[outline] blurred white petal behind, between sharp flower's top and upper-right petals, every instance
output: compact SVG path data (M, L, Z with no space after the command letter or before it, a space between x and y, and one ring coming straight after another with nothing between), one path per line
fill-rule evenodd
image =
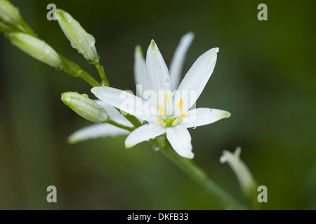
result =
M193 32L185 34L180 39L180 43L171 60L169 71L171 76L171 84L174 90L176 90L179 86L185 55L187 54L187 49L189 49L193 38L195 38L195 34Z

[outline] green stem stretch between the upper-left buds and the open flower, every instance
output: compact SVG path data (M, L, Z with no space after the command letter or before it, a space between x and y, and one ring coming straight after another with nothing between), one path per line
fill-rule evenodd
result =
M100 83L96 79L94 79L92 76L90 76L84 69L81 69L81 67L67 59L66 57L59 54L60 59L62 59L62 69L69 73L71 76L74 77L80 77L84 79L87 83L89 83L92 87L101 86Z

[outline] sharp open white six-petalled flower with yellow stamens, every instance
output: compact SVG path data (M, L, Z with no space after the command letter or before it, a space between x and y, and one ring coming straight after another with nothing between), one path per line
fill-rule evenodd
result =
M173 92L169 70L156 43L152 41L147 50L146 65L151 90L156 94L157 104L152 103L152 100L148 104L145 99L112 87L91 89L91 92L103 102L147 121L146 125L138 127L129 134L125 141L126 148L166 133L176 153L185 158L194 157L191 136L187 128L208 125L230 117L227 111L191 109L213 73L217 52L218 48L212 48L201 55L187 71L178 90Z

